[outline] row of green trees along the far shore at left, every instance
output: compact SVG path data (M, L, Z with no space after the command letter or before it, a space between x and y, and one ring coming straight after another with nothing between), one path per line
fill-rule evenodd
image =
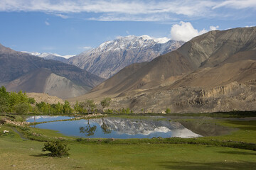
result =
M44 114L68 114L68 113L132 113L129 108L111 110L111 98L104 98L100 102L101 108L98 109L93 100L78 102L71 106L68 101L64 103L49 104L45 102L36 103L34 98L29 98L26 92L18 93L6 91L4 86L0 88L0 113L44 113ZM108 108L108 109L107 109ZM106 110L107 109L107 110Z

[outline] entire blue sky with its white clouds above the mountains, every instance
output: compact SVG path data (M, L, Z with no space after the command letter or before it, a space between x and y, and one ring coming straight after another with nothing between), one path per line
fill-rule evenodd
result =
M118 36L190 40L209 30L256 26L255 0L0 0L0 43L76 55Z

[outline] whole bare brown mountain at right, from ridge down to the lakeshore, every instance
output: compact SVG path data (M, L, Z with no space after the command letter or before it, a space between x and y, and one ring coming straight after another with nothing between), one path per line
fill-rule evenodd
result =
M256 110L256 27L213 30L129 67L76 99L111 96L137 113Z

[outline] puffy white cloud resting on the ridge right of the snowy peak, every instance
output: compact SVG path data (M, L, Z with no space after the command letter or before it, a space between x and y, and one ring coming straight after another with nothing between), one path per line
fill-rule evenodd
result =
M188 41L206 32L207 30L205 29L198 31L193 28L191 23L185 23L181 21L179 24L175 24L171 27L171 39Z

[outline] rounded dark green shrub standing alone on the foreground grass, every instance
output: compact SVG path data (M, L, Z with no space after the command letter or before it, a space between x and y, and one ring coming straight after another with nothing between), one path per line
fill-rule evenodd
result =
M68 151L70 150L67 145L61 141L47 142L43 145L42 151L50 151L51 157L65 157L69 155Z

